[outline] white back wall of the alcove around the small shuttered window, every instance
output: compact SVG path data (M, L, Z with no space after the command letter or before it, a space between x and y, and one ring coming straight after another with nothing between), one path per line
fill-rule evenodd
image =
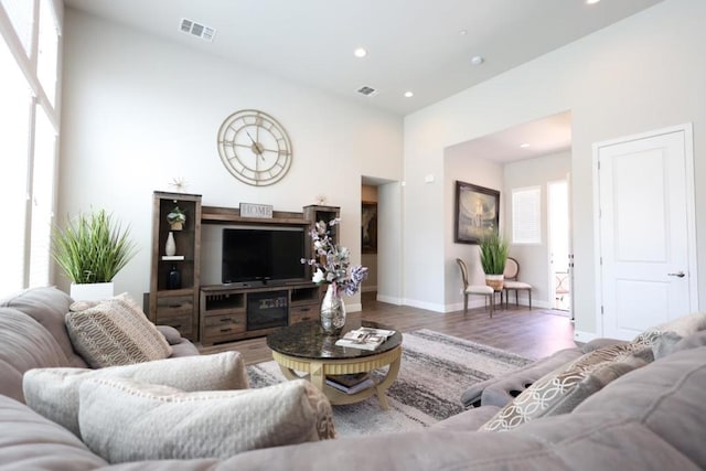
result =
M571 153L559 152L535 159L509 163L504 167L505 183L505 234L512 240L512 191L527 186L539 186L542 191L542 243L538 245L510 246L510 256L520 265L521 281L532 285L532 306L537 308L552 308L554 293L549 291L549 246L547 222L547 183L556 180L566 180L571 168ZM525 292L520 292L523 302ZM524 302L526 303L526 296Z

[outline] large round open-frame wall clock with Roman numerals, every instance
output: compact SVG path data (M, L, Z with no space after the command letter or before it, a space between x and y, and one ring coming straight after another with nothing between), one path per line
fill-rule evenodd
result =
M291 165L291 141L266 113L244 109L228 116L218 130L218 153L228 172L250 185L280 181Z

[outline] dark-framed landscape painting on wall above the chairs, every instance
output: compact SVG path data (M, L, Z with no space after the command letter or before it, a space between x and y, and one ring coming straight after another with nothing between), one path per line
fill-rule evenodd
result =
M500 192L466 182L456 182L453 242L478 244L500 225Z

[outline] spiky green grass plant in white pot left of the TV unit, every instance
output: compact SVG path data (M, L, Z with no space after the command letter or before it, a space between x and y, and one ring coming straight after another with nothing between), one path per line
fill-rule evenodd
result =
M64 227L54 227L52 257L71 280L74 300L114 295L113 279L136 254L129 234L105 210L79 213Z

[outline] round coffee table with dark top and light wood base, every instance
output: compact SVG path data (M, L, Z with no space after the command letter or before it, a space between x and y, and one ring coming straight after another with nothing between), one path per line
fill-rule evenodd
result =
M387 327L367 321L349 321L343 333L368 327ZM267 336L267 346L288 379L304 377L327 395L331 404L353 404L377 394L381 407L388 409L385 392L397 378L402 360L402 334L395 332L374 351L335 345L339 338L327 336L318 321L299 322L281 328ZM372 386L354 394L346 394L327 384L327 376L371 373L389 366L381 378L373 378ZM297 372L304 375L300 376Z

